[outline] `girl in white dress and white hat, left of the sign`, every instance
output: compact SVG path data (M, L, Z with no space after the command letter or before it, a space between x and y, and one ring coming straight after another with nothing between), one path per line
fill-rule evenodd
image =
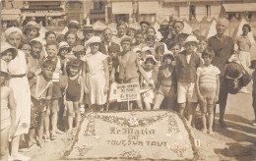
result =
M107 101L109 89L109 72L107 55L98 51L100 37L94 36L88 40L91 52L84 57L84 79L86 93L89 93L90 104L96 111L101 110Z

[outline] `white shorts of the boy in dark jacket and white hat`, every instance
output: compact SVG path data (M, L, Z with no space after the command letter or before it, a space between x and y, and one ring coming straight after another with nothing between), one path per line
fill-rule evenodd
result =
M180 82L177 83L177 102L198 102L195 82Z

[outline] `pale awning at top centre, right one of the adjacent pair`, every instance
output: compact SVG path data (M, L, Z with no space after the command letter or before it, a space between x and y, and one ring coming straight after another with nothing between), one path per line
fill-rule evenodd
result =
M159 11L159 1L139 2L140 14L156 14Z

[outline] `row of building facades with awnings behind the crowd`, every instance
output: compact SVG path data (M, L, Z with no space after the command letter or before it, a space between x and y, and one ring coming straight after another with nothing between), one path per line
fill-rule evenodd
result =
M1 20L34 19L43 26L62 26L75 19L81 24L168 21L170 17L187 22L224 17L231 20L256 19L254 0L29 0L1 1Z

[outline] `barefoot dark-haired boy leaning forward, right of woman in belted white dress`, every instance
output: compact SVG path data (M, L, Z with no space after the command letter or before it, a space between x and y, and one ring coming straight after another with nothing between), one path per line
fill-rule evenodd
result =
M51 79L54 69L55 65L51 61L46 60L42 64L42 74L30 80L32 92L32 118L29 132L29 147L33 144L35 129L38 131L38 145L42 147L44 113L46 112L46 108L49 108L48 103L52 96L53 83Z

